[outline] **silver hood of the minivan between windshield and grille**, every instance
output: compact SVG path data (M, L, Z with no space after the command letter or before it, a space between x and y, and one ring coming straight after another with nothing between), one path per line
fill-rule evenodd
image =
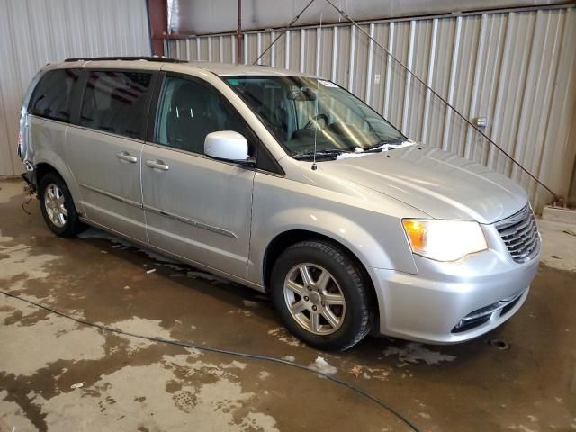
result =
M323 173L384 193L435 219L492 223L527 203L524 190L504 175L418 144L318 166Z

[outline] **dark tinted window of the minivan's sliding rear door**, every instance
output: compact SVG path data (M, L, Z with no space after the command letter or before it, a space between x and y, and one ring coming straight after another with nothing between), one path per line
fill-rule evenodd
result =
M142 72L90 71L80 125L144 139L151 77Z

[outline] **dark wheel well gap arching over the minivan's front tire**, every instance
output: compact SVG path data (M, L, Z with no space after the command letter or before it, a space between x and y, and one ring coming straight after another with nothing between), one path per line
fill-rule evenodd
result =
M266 254L264 255L264 286L266 287L266 290L270 288L270 277L272 276L272 269L275 265L276 259L278 259L278 257L280 257L280 255L288 247L291 247L292 245L299 243L301 241L310 241L310 240L324 240L338 246L338 248L346 252L347 256L355 261L357 267L365 276L365 281L368 284L368 291L369 295L371 296L371 301L373 302L373 304L377 305L378 299L376 297L376 292L374 289L372 278L370 277L370 275L368 275L366 267L364 266L364 264L362 264L362 261L360 261L360 259L356 257L354 252L352 252L348 247L344 246L342 243L339 243L337 240L333 238L329 238L328 236L324 236L323 234L319 234L318 232L307 231L304 229L293 229L291 231L283 232L282 234L276 236L266 248ZM374 316L376 319L379 318L377 306L374 307Z

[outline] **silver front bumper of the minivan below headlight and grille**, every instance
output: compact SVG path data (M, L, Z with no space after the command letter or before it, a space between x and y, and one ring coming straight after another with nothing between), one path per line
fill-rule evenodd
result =
M489 249L442 263L414 256L418 274L368 267L383 335L432 344L478 338L508 320L526 301L540 252L512 260L494 227L483 227Z

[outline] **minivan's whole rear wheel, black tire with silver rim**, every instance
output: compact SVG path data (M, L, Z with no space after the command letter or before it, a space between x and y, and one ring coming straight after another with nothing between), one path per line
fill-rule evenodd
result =
M72 195L59 175L48 173L42 176L38 197L44 221L54 234L69 238L85 229L85 224L78 219Z

